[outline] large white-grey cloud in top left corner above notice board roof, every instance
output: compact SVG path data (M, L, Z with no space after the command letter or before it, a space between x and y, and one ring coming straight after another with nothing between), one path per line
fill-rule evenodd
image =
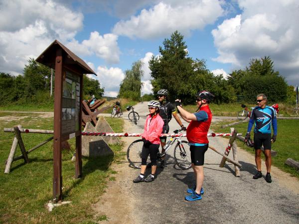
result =
M54 39L66 42L83 27L82 13L52 0L1 0L0 14L0 68L11 75Z

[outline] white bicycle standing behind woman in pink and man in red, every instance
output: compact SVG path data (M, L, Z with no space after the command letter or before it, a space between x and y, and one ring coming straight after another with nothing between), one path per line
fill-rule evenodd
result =
M174 133L182 133L182 129L174 130ZM191 167L191 153L190 153L190 146L188 141L181 140L182 137L171 137L169 141L167 141L165 145L165 152L158 153L158 161L161 161L161 158L166 155L166 152L169 148L177 141L174 147L174 161L176 165L181 168L182 170L187 170ZM143 140L138 139L133 141L127 150L127 159L130 165L134 168L141 168L141 152L143 147ZM148 158L147 163L150 163Z

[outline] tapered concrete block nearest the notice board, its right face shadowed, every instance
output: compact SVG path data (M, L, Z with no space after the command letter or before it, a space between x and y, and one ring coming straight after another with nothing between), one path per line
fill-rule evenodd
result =
M96 132L96 128L87 122L84 131ZM82 136L82 155L86 157L99 157L114 155L109 145L104 141L102 136Z

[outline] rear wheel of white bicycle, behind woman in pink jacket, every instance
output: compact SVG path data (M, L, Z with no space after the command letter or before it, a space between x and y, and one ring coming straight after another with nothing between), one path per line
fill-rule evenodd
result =
M143 147L142 139L133 141L127 149L127 159L134 168L141 168L141 152ZM150 163L148 157L147 164Z

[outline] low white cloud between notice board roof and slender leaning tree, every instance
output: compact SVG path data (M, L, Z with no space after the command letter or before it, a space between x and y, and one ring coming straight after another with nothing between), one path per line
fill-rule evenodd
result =
M105 96L116 97L122 80L125 78L125 74L120 68L107 68L99 66L96 79L99 80L101 87L105 87Z

